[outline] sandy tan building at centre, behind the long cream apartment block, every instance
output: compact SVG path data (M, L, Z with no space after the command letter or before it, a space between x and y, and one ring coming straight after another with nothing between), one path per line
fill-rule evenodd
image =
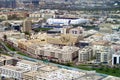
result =
M81 36L62 34L58 36L48 36L47 42L55 45L75 45L80 39L82 39Z

